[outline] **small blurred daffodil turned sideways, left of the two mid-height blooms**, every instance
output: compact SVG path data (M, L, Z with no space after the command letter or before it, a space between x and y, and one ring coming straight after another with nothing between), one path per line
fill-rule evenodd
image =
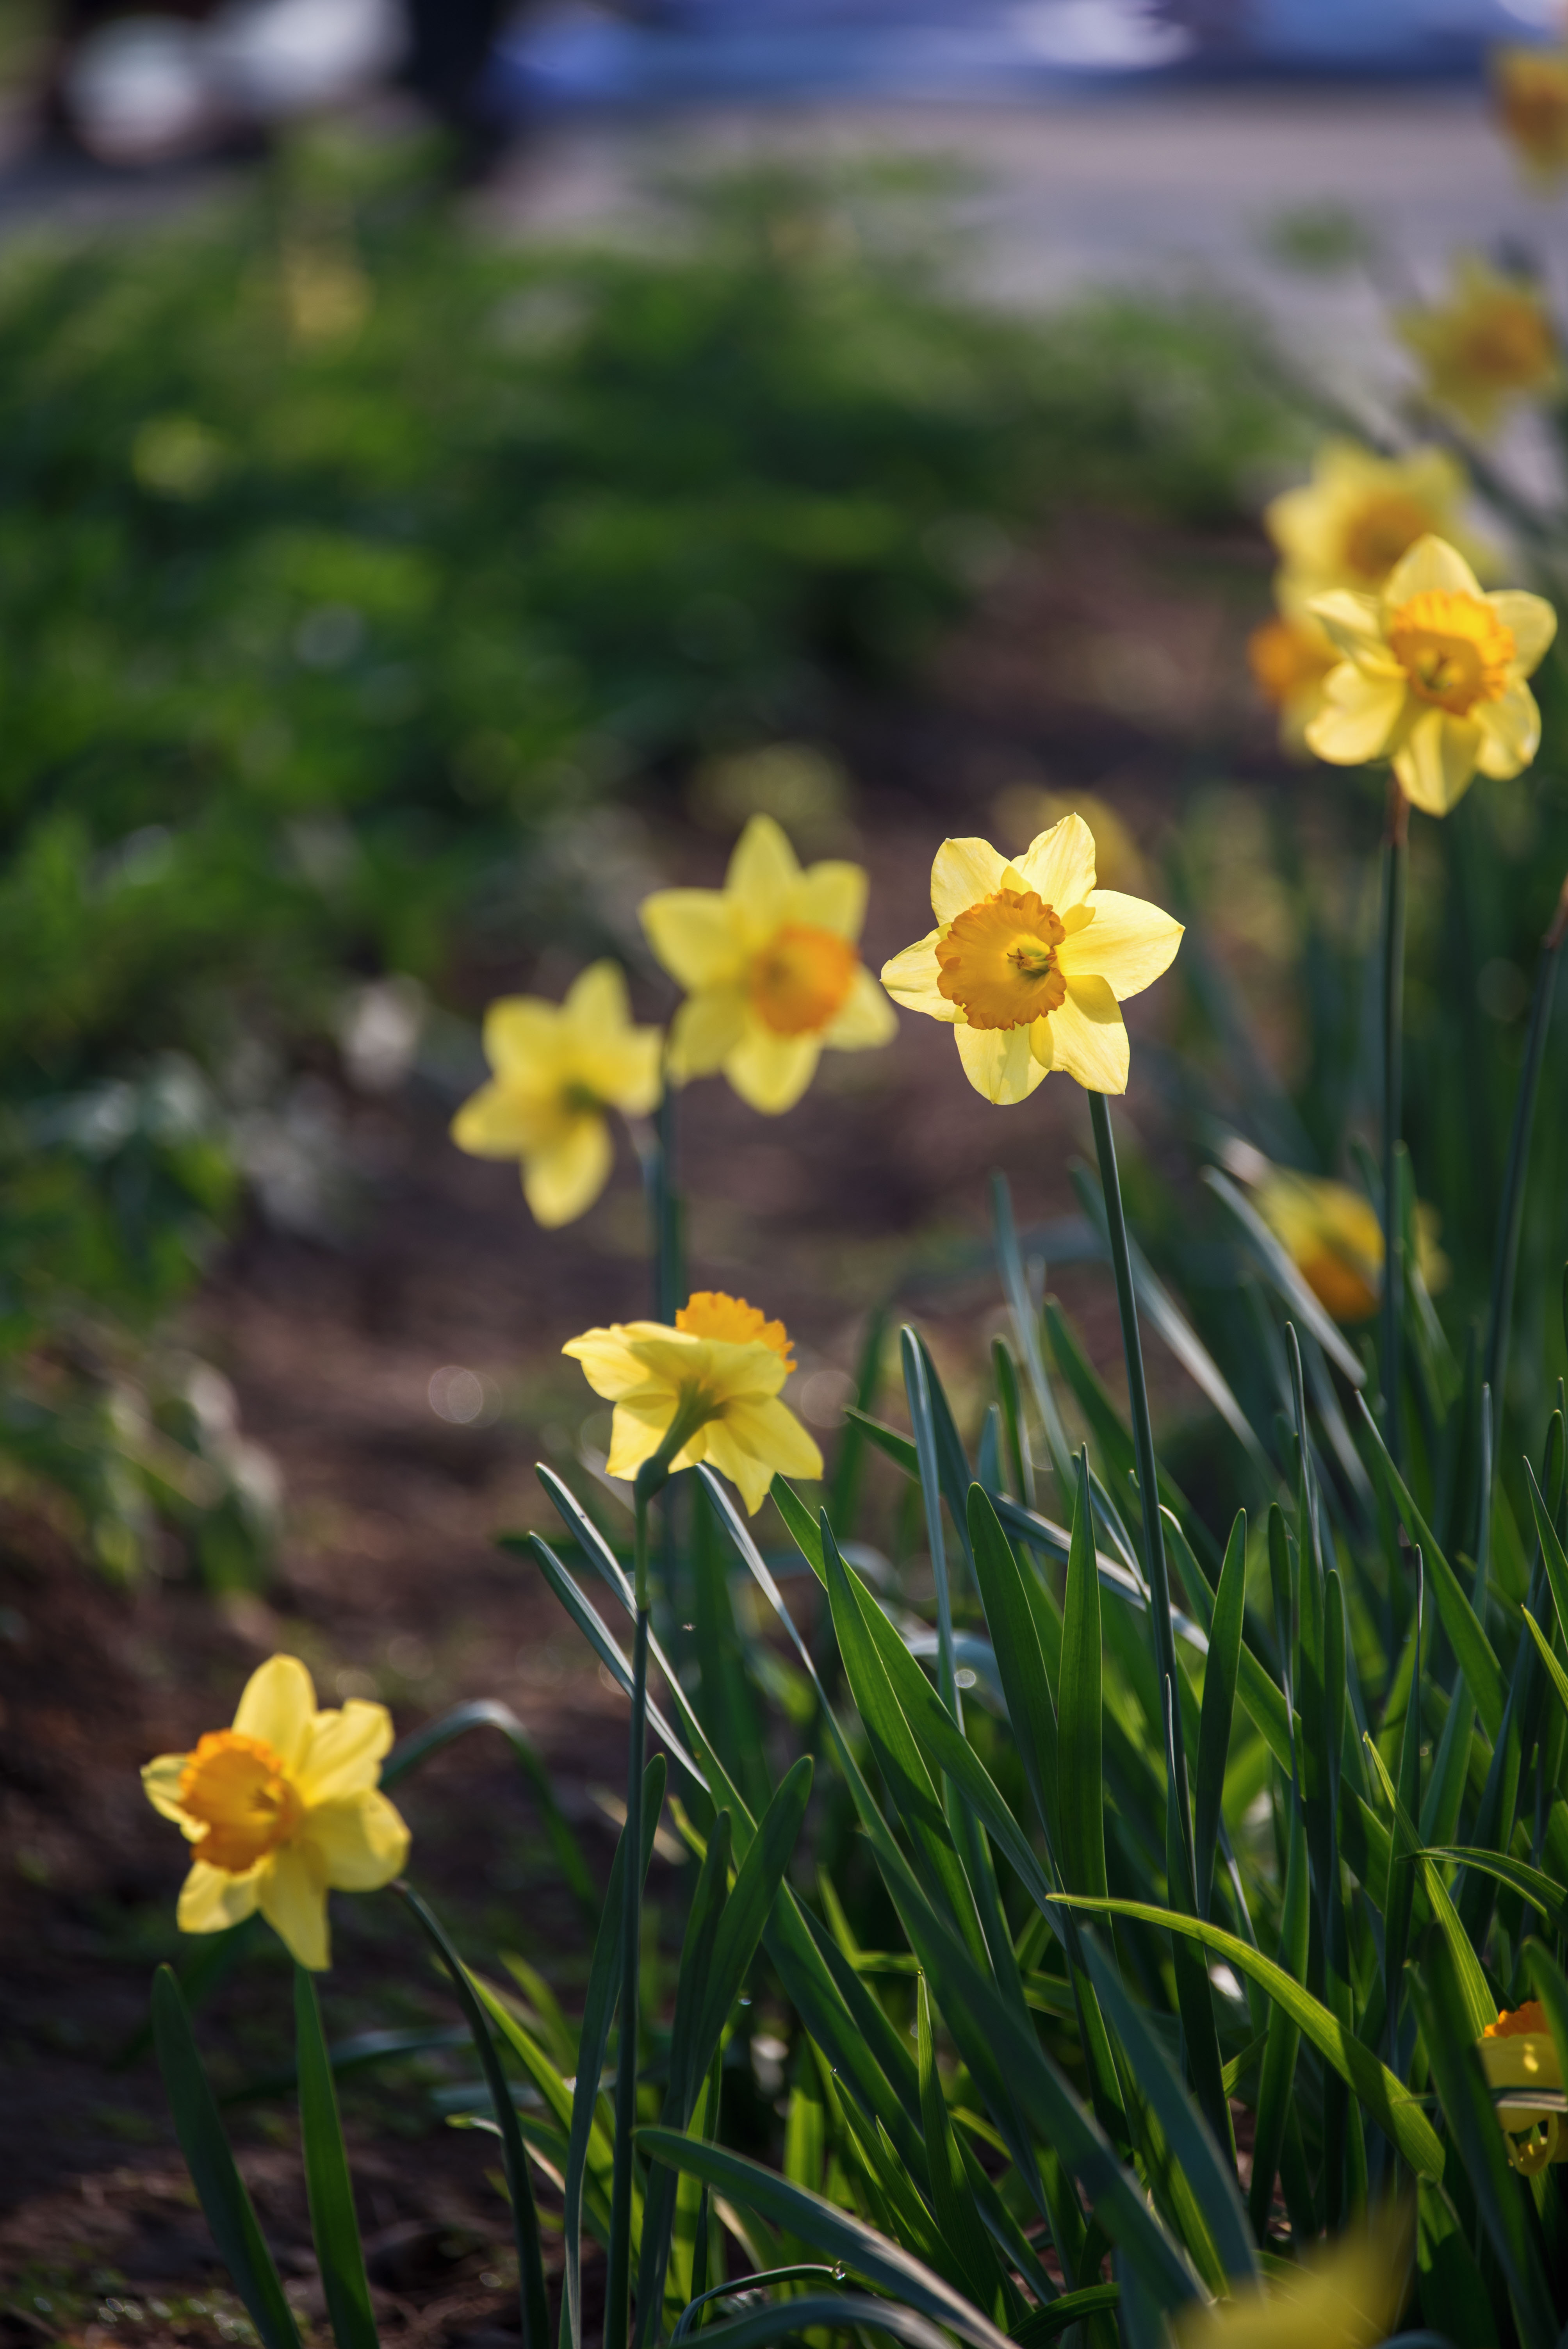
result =
M660 1099L660 1029L631 1027L622 972L592 963L566 1003L491 1003L484 1057L495 1076L453 1118L453 1142L474 1158L519 1158L535 1224L587 1214L610 1179L608 1111L641 1118Z

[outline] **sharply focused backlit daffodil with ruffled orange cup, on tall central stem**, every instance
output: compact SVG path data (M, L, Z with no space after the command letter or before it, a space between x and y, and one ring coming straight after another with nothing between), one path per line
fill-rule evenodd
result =
M937 928L883 963L883 987L953 1027L976 1092L1023 1102L1049 1069L1089 1092L1127 1092L1120 1005L1171 965L1181 923L1094 886L1082 815L1012 862L991 841L944 841L932 911Z

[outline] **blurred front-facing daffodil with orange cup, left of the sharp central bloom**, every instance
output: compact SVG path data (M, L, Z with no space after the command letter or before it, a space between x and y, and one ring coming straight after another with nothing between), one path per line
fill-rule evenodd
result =
M768 1116L793 1109L824 1045L869 1052L897 1019L857 954L866 916L859 864L796 862L770 815L753 815L725 886L662 888L643 900L643 930L685 987L669 1031L678 1083L723 1069L742 1102Z

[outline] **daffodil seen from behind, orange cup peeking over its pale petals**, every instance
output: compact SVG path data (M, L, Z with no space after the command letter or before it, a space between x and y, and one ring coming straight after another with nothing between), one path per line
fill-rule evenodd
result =
M561 1353L615 1405L608 1475L634 1478L676 1426L685 1442L671 1468L711 1461L753 1517L775 1475L822 1475L822 1452L779 1402L796 1367L784 1322L765 1320L744 1297L695 1290L674 1330L613 1322L584 1330Z

